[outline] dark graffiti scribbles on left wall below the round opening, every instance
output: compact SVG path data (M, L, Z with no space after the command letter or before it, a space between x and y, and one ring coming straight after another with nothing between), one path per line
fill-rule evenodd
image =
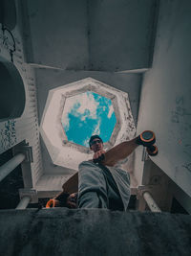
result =
M10 149L16 144L16 130L14 120L5 122L3 128L0 128L0 148L2 150Z

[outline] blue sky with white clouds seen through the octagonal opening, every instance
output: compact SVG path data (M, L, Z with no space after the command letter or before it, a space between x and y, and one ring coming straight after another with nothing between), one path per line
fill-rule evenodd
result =
M69 141L89 147L93 134L107 142L117 119L110 99L88 91L66 100L61 122Z

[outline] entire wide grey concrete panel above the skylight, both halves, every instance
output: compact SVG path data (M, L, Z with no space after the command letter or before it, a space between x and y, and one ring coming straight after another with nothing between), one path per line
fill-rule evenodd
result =
M147 68L158 2L22 1L27 60L66 70Z

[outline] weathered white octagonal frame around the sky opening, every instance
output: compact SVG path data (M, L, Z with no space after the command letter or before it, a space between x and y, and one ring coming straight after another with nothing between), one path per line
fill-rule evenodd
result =
M135 136L136 127L127 93L92 78L59 86L50 90L40 124L43 141L55 165L77 170L81 161L92 158L93 151L89 148L68 141L61 123L66 99L87 91L110 99L114 107L117 123L110 140L104 143L106 151Z

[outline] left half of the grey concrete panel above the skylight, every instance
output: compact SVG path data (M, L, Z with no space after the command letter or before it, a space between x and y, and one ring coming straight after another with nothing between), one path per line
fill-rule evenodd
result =
M29 23L25 31L28 62L63 69L86 69L89 61L87 1L22 2L23 22Z

